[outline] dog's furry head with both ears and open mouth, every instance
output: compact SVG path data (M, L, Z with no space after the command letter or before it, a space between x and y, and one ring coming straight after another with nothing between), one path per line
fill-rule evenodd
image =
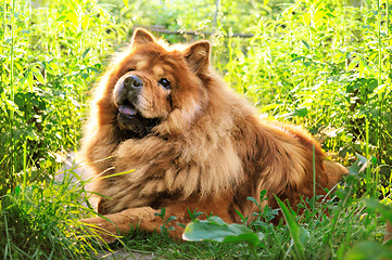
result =
M207 102L208 64L207 41L168 46L137 29L109 68L115 122L139 138L184 131Z

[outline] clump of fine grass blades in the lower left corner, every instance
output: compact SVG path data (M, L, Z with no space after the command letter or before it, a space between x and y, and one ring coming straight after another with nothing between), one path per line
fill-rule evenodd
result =
M91 211L80 205L86 192L71 171L61 183L16 186L1 200L0 252L4 259L88 259L92 246L77 243L76 220Z

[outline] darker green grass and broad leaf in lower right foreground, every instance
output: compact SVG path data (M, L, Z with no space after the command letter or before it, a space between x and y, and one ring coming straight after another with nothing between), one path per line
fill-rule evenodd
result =
M244 230L244 234L253 233L253 236L258 233L263 234L263 240L256 247L256 253L262 258L365 259L356 257L358 253L361 257L368 256L364 252L369 245L375 245L376 248L382 250L377 253L372 251L374 257L381 259L387 256L387 252L390 252L390 249L377 242L364 242L376 232L380 218L375 214L374 210L365 209L362 197L355 198L357 196L356 187L361 183L359 176L363 173L352 170L352 173L345 179L341 192L331 200L326 200L324 204L317 203L315 207L311 207L312 199L303 202L299 205L299 208L302 209L301 214L293 211L290 205L287 206L276 198L286 223L280 222L278 225L273 225L266 221L265 216L269 216L268 211L273 209L265 208L264 212L258 213L258 218L250 221L251 231L245 229L245 225L239 230ZM262 197L264 197L263 194ZM319 202L319 198L316 200ZM329 217L327 217L328 212ZM195 220L187 226L185 238L187 239L189 236L190 240L225 242L226 238L232 236L232 232L227 226L215 219ZM246 243L246 239L238 235L235 242Z

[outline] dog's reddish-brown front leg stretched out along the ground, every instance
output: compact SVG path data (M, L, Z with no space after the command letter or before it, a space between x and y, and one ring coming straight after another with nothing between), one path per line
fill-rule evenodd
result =
M165 220L172 216L176 218L169 223L165 223L166 229L174 227L174 230L168 231L168 235L174 239L181 239L182 226L191 222L188 209L204 212L200 218L206 218L213 213L219 216L227 223L235 222L233 217L229 213L231 199L228 199L228 196L227 194L216 195L205 200L192 198L166 206ZM161 213L161 210L151 207L130 208L117 213L105 214L104 218L84 219L81 222L92 227L90 234L96 232L104 242L112 243L118 235L127 234L132 227L147 232L160 232L163 221L157 213Z

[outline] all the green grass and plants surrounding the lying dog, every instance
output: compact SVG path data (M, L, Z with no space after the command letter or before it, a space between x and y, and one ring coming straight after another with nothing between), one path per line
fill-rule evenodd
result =
M255 256L243 243L174 243L165 234L139 231L110 247L76 236L77 220L92 214L83 204L88 193L81 180L71 181L72 171L61 182L53 176L64 155L78 148L89 88L134 25L197 31L214 27L214 66L226 81L261 113L303 125L324 140L331 158L350 167L351 174L331 202L304 203L301 216L288 205L288 224L271 225L275 211L261 209L248 226L263 234L254 248L257 257L391 256L381 244L391 211L383 208L390 203L392 166L389 0L365 1L361 9L337 1L222 1L217 13L207 1L108 2L0 4L4 259L94 259L104 249L118 248L164 259ZM205 18L215 14L215 22ZM223 37L230 32L254 37ZM172 42L202 38L164 37ZM382 204L368 203L375 200ZM329 209L329 217L319 213L323 208Z

